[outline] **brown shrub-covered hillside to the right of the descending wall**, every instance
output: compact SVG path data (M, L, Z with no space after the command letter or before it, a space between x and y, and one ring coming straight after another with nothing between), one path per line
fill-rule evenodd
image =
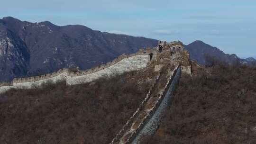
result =
M256 69L213 61L196 76L182 76L148 144L256 144Z

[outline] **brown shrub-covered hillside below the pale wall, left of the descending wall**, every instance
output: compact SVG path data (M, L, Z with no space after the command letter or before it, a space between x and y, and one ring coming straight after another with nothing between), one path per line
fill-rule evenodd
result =
M9 90L0 96L0 144L110 143L146 97L150 74Z

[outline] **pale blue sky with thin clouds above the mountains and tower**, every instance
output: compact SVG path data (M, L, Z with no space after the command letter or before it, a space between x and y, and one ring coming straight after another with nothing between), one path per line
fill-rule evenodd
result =
M256 0L4 0L0 17L6 16L184 44L202 40L256 56Z

